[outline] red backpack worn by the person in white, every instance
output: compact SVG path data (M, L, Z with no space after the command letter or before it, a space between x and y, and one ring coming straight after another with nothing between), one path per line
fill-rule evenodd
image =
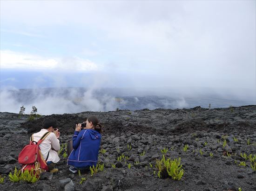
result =
M50 133L45 133L38 142L33 140L32 134L29 145L26 145L19 154L18 161L22 164L21 172L25 170L30 171L33 168L34 174L40 177L40 173L48 171L46 160L48 159L49 153L45 160L41 154L39 145Z

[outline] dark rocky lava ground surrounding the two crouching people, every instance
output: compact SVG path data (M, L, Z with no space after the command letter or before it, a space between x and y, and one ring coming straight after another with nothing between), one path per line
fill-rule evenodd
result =
M256 191L256 171L248 159L249 154L256 154L255 105L52 115L61 131L62 146L72 139L75 124L89 115L97 115L104 125L99 153L104 170L94 176L69 172L64 148L57 164L59 172L46 172L41 180L27 184L13 183L7 175L15 166L20 168L18 155L30 135L40 131L44 116L28 121L28 115L19 118L18 114L0 113L0 174L6 176L0 190ZM181 158L184 175L180 181L157 177L156 159L162 158L163 148L168 148L166 158ZM122 154L126 158L117 161ZM246 166L239 166L240 162ZM81 178L86 180L80 184Z

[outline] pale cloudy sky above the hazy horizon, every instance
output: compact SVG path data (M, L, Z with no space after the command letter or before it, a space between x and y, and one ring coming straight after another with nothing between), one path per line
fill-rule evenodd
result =
M212 89L256 102L256 1L0 1L0 86Z

